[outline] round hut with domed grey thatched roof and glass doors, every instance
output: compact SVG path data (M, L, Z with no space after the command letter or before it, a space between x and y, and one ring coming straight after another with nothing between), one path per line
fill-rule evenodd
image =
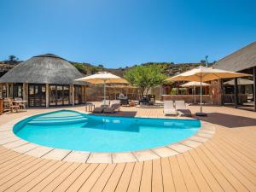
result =
M19 97L29 107L74 105L85 102L85 84L76 67L57 55L33 56L0 78L2 97Z

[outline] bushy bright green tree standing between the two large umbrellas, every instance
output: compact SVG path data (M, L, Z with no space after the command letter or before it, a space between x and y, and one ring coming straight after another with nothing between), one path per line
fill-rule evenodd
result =
M148 94L148 90L166 79L163 68L156 65L137 66L125 72L125 79L132 85L137 86L140 95Z

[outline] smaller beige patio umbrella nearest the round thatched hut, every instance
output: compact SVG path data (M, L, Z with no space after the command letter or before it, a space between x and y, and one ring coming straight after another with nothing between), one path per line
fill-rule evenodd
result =
M104 105L106 104L106 84L128 84L125 79L112 73L99 72L84 78L75 79L75 81L87 82L90 84L103 84L104 86Z

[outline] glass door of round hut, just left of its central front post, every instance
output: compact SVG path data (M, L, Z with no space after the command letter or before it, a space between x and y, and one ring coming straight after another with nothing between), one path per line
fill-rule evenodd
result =
M29 107L45 107L45 84L28 84Z

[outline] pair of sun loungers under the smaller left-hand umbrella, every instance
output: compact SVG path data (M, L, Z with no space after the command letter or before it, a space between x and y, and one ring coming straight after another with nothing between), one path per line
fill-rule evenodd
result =
M111 101L111 105L109 105L109 101L104 102L101 107L95 108L92 113L115 113L120 110L120 101L113 100Z

